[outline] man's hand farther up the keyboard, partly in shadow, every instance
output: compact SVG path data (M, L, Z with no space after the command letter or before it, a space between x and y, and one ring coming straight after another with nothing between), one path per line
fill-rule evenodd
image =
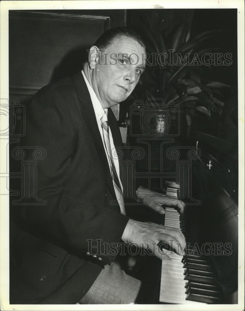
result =
M185 203L181 200L157 193L146 188L139 187L136 191L137 198L144 201L147 207L150 207L159 214L165 214L162 205L175 205L178 207L180 214L183 214Z

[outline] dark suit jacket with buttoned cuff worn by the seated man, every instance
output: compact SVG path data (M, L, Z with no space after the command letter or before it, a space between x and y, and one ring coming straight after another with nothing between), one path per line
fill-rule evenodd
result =
M87 239L102 240L98 251L104 253L103 243L120 242L128 217L110 205L116 196L81 72L42 88L26 110L20 146L47 152L37 163L37 197L47 204L28 205L26 199L25 205L11 207L10 303L75 304L103 264L115 258L87 255ZM108 120L120 146L111 109Z

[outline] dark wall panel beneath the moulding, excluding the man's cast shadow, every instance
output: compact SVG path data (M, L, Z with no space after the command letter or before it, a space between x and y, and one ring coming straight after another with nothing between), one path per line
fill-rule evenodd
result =
M49 83L62 59L88 47L91 40L109 29L109 20L106 16L12 13L9 29L10 86L41 87ZM81 59L77 67L81 67Z

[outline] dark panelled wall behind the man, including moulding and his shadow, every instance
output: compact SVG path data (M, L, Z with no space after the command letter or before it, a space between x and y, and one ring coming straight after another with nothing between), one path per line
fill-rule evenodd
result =
M9 11L11 104L78 72L99 35L124 24L125 10Z

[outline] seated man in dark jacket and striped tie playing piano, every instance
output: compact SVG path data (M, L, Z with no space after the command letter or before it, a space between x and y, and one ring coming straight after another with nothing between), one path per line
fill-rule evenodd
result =
M46 205L28 205L26 198L26 205L12 208L10 303L133 303L140 281L116 267L106 245L147 243L166 260L156 244L173 240L176 252L185 247L179 230L125 215L112 156L122 141L110 107L133 91L145 53L134 31L108 30L91 47L82 72L45 86L28 107L20 146L46 150L37 166L37 195ZM169 197L140 190L139 199L164 213ZM183 202L171 202L183 211ZM96 253L88 241L101 241Z

